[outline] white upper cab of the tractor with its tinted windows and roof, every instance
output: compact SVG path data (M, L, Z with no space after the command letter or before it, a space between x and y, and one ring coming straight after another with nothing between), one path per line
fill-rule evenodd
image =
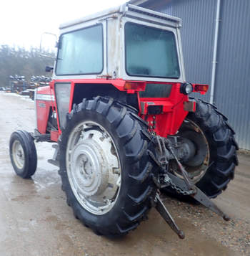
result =
M184 82L180 27L130 4L61 24L53 78Z

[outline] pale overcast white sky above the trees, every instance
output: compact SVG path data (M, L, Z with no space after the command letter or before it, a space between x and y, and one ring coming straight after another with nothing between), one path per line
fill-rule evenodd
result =
M1 0L0 44L39 47L41 34L59 34L59 24L94 14L126 0ZM42 44L54 47L55 38L44 34Z

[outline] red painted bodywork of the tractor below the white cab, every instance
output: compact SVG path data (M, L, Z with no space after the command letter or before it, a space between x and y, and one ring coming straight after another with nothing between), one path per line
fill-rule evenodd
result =
M166 137L168 135L174 135L179 130L181 123L183 123L184 118L189 113L185 107L185 102L189 102L187 95L180 93L181 83L177 82L156 82L157 84L172 85L171 93L168 98L141 98L139 95L140 91L144 91L146 88L146 83L143 81L125 81L125 80L107 80L107 79L85 79L85 80L54 80L49 86L40 87L36 93L36 110L37 110L37 127L40 133L46 133L47 121L49 118L50 108L56 110L56 116L59 116L56 101L54 100L55 95L55 84L69 83L71 84L71 93L69 98L69 112L71 112L73 98L74 98L74 87L75 84L109 84L114 85L118 90L125 91L129 94L137 94L139 103L139 116L149 123L150 131L154 131L157 135ZM154 82L149 82L154 83ZM198 90L195 90L199 88ZM194 86L194 91L200 92L200 90L206 89L206 85L201 85L200 87ZM50 98L44 98L47 95ZM83 95L84 98L84 95ZM158 105L161 108L161 113L149 115L147 113L149 105ZM195 104L194 108L195 109ZM57 123L59 130L51 132L51 141L57 141L59 135L61 134L61 129L59 126L59 118L57 118Z

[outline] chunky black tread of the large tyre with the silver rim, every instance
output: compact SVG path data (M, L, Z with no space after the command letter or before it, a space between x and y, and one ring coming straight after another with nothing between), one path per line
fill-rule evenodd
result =
M99 105L101 104L101 105ZM99 108L101 106L101 108ZM155 196L156 187L154 186L151 176L151 171L154 170L154 161L147 155L147 149L149 147L149 135L144 136L143 133L147 133L144 121L141 120L135 114L133 108L128 108L126 105L117 102L113 98L96 97L94 100L82 100L82 103L76 108L77 113L69 114L71 118L68 119L65 132L69 133L69 128L74 127L74 120L76 116L82 115L84 111L92 111L94 113L101 113L100 115L106 117L112 115L112 120L106 121L110 123L111 128L119 137L119 140L124 145L124 157L128 163L133 163L133 172L128 172L127 182L131 184L129 194L124 197L124 207L120 209L120 215L116 218L114 224L110 227L97 226L95 222L89 222L84 219L83 209L81 209L78 202L74 198L69 187L69 181L66 181L66 167L63 160L63 153L60 155L60 171L62 184L66 192L67 204L73 209L74 215L84 225L90 227L97 234L104 234L112 237L120 237L127 234L129 231L136 229L139 223L146 219L146 215L151 208L151 198ZM85 112L84 112L85 113ZM119 136L119 125L126 125L126 118L130 118L133 122L131 131L126 132ZM69 127L69 128L68 128ZM65 143L67 141L67 133L62 134L59 146L66 151ZM139 140L139 141L138 141ZM132 147L132 148L131 148ZM141 160L143 159L143 160ZM134 185L133 185L134 184ZM133 185L133 186L132 186ZM112 220L113 221L113 220Z

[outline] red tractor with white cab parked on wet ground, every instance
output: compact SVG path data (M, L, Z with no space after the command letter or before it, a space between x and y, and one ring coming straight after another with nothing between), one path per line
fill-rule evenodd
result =
M10 139L11 163L36 171L34 141L49 141L76 218L106 236L136 229L156 207L184 238L159 191L211 202L234 178L234 131L214 105L189 98L181 19L124 4L62 24L53 80L35 93L37 128Z

